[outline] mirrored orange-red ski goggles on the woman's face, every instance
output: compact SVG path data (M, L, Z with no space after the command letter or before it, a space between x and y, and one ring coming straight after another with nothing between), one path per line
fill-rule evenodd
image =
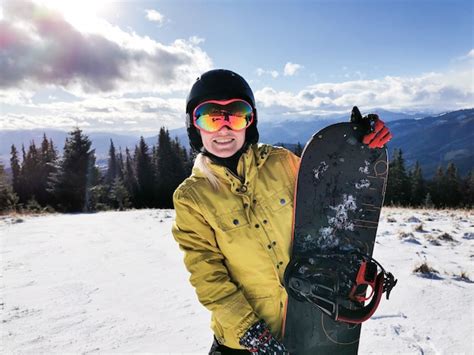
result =
M200 103L193 111L194 126L209 133L227 126L241 131L253 122L253 108L244 100L209 100Z

